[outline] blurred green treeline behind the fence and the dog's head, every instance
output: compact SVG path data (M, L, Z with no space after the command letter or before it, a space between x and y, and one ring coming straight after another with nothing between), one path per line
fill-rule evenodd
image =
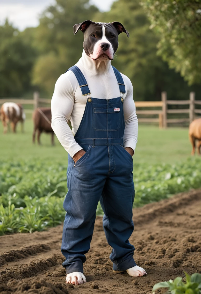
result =
M6 20L0 26L0 97L27 97L37 90L51 98L58 77L81 57L83 34L74 36L73 25L87 19L119 21L129 31L130 38L120 34L112 64L130 78L134 100L160 100L161 91L167 91L168 99L188 99L190 91L200 97L201 85L188 86L157 54L160 34L150 29L140 0L116 1L108 12L88 0L56 0L38 27L23 32Z

